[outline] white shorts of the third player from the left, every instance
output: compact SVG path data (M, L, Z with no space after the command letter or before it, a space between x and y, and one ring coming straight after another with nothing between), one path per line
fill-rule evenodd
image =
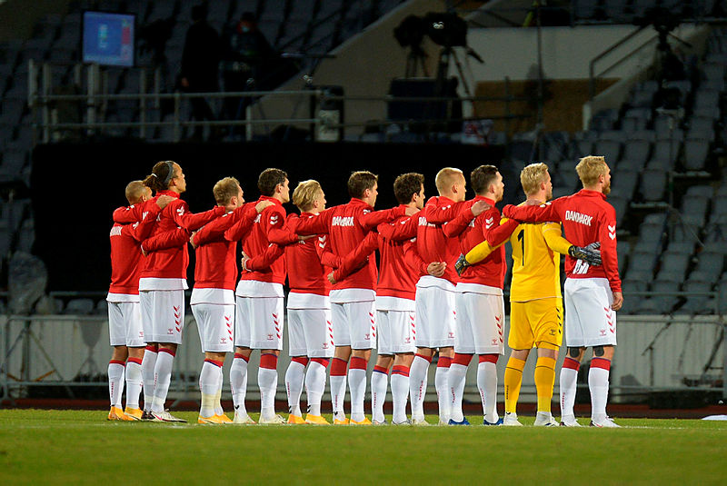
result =
M194 303L202 352L233 352L234 304Z

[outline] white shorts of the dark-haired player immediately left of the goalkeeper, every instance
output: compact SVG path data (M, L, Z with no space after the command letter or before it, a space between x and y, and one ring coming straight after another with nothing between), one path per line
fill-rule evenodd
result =
M456 296L454 352L504 354L505 303L502 295L461 292Z

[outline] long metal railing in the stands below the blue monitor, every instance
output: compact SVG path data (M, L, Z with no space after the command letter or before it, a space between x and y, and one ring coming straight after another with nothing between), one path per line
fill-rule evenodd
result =
M515 102L532 101L528 96L515 96L510 94L509 80L505 79L505 95L503 96L422 96L422 97L399 97L392 95L384 96L348 96L334 95L327 89L320 89L311 86L310 89L302 90L277 90L277 91L242 91L242 92L213 92L213 93L162 93L160 92L160 84L157 82L159 75L158 69L153 73L148 73L145 69L138 70L140 92L134 94L109 94L107 90L107 82L105 72L102 72L97 64L89 64L84 66L85 74L80 66L74 68L74 83L78 84L78 90L85 84L85 92L83 94L54 94L52 87L52 65L48 63L36 65L32 60L28 66L28 104L32 111L32 121L34 127L35 143L50 143L54 141L54 134L73 131L77 134L85 136L93 136L101 134L106 129L112 128L133 128L138 129L140 138L148 138L148 129L157 127L172 127L172 142L178 142L183 137L185 128L195 127L244 127L245 138L251 140L254 136L254 126L263 125L267 132L270 127L275 125L309 125L312 127L324 126L328 130L338 130L343 128L361 127L371 124L380 126L388 126L393 124L407 125L416 124L418 126L433 127L436 125L447 123L462 123L466 121L478 121L483 118L492 120L504 120L506 132L509 132L509 124L512 120L528 118L531 114L513 114L512 105ZM131 75L131 74L128 74ZM153 78L153 91L146 92L147 78ZM275 97L287 98L293 105L292 114L289 117L270 119L264 114L262 100L269 100ZM191 120L184 119L183 106L194 98L204 98L207 100L237 100L241 105L244 104L244 119L224 118L224 110L220 118L214 121ZM244 103L243 103L243 100ZM105 114L109 112L109 104L112 102L131 102L134 110L138 114L138 121L102 121ZM443 110L445 115L436 116L437 110L432 109L432 116L424 117L416 120L393 120L379 119L367 120L362 122L340 121L334 122L330 117L319 115L318 111L314 112L314 116L298 116L299 112L307 113L308 110L301 110L304 103L311 106L320 106L322 104L339 103L339 104L389 104L389 103L409 103L424 104L426 107L432 107L437 104L445 104ZM503 104L503 112L501 115L474 115L472 117L453 117L451 115L453 104L463 103L472 104L473 113L477 113L476 105L483 102L497 102ZM57 116L53 113L53 107L56 104L73 104L76 113L83 111L85 114L80 117L82 120L78 122L58 121ZM174 114L172 121L154 121L150 118L153 111L162 111L162 106L167 104L168 113ZM425 108L428 109L428 108ZM349 108L350 110L350 108ZM257 112L257 114L255 113Z

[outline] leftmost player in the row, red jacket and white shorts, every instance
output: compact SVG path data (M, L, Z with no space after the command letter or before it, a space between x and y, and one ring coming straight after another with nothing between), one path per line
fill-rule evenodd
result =
M152 191L142 181L126 185L126 200L130 206L116 211L126 212L136 204L143 204L152 198ZM171 198L164 197L149 206L144 222L130 219L128 223L114 223L110 233L111 243L111 285L108 289L109 339L114 347L108 365L109 395L111 411L108 420L141 420L139 393L142 390L141 363L144 357L144 330L139 309L139 272L141 271L142 241L144 224L156 219ZM152 223L153 224L153 223ZM128 360L126 359L128 357ZM125 370L124 370L125 368ZM124 373L125 371L125 373ZM126 382L126 409L121 408L121 393Z

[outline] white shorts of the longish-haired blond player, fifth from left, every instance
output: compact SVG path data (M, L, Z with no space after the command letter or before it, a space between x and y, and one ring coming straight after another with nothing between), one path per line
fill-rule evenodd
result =
M288 309L291 356L333 358L334 328L330 309Z

